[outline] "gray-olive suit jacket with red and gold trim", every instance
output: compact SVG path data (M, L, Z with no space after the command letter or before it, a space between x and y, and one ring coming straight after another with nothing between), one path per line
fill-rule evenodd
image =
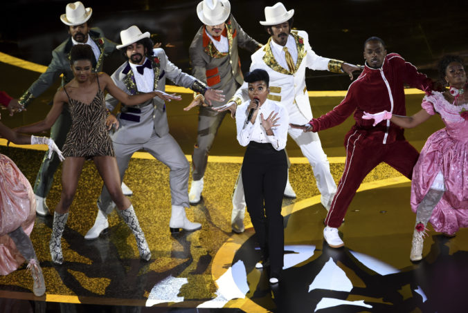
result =
M233 97L237 88L244 82L240 70L237 47L254 53L262 47L255 39L247 35L232 15L225 23L229 44L228 53L219 53L201 26L190 44L189 54L192 64L192 75L210 86L224 91L225 102L213 102L213 106L221 106Z

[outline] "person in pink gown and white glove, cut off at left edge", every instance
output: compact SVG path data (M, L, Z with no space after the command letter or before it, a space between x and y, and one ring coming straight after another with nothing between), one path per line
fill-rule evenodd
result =
M0 104L15 106L17 101L0 91ZM9 109L11 113L21 111L21 108ZM1 122L0 137L15 144L48 144L50 151L58 151L59 158L62 156L50 138L20 135ZM42 296L46 291L44 276L29 239L36 218L35 202L33 189L26 177L15 162L0 153L0 275L10 274L27 261L34 279L33 292Z

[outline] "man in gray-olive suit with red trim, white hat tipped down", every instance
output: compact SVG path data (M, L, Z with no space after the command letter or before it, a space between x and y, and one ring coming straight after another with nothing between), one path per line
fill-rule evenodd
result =
M190 44L192 75L211 88L223 91L226 99L231 99L244 82L237 48L254 53L262 45L247 35L235 21L228 0L201 1L197 6L197 15L204 26L199 28ZM216 108L224 104L213 102L212 106ZM199 107L197 144L192 157L193 181L189 193L191 205L201 199L208 152L225 115L226 111Z

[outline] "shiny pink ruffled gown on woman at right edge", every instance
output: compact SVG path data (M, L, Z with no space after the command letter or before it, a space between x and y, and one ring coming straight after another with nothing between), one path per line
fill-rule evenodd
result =
M435 231L455 234L460 227L468 227L468 104L455 106L433 91L424 97L422 108L431 115L439 113L445 128L427 139L415 165L411 209L416 212L435 176L442 172L444 196L429 221Z

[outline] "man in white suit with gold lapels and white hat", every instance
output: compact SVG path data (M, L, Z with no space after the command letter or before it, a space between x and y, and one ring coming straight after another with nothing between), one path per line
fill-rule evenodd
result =
M312 117L312 110L305 86L305 68L348 73L351 79L352 72L360 68L316 55L309 45L307 32L291 31L294 10L287 11L285 6L278 2L274 6L267 6L264 12L265 21L260 21L260 24L266 26L271 37L263 48L253 53L250 70L256 68L266 70L270 77L269 99L285 106L290 123L306 124L309 122L309 117ZM239 105L247 99L249 99L247 84L244 83L224 109L233 111L235 110L233 102ZM321 203L325 209L330 209L336 193L336 184L330 173L330 164L327 155L323 152L320 138L316 134L309 135L301 129L289 129L288 133L312 165L317 187L321 193Z

